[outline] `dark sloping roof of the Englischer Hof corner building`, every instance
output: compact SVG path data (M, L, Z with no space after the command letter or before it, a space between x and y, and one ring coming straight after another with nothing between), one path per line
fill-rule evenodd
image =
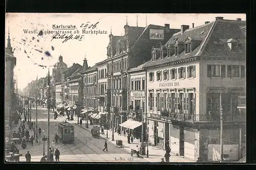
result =
M205 25L195 27L186 30L183 34L181 32L174 34L165 44L170 44L174 48L175 42L184 43L187 38L191 38L192 41L196 40L197 45L193 48L193 51L185 54L181 52L175 56L174 51L171 57L158 58L156 61L150 60L144 67L156 66L164 63L172 63L175 61L190 59L198 56L202 57L238 57L238 55L244 56L244 43L245 36L242 33L240 25L235 20L215 20ZM244 23L244 22L243 22ZM231 53L230 48L226 44L228 39L236 39L240 44L241 51L237 53Z

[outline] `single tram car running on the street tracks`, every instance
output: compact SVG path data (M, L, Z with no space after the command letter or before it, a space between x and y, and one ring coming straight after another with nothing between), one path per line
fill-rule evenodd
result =
M72 143L75 140L74 126L70 123L58 124L58 136L62 143Z

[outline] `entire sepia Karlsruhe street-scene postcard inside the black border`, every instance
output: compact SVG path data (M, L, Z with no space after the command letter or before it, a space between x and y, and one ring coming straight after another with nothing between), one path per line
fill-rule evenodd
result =
M246 162L246 14L6 13L5 161Z

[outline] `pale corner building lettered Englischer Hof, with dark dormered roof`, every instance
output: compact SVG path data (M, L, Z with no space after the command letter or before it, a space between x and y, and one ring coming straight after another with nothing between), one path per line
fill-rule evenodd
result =
M246 150L245 113L237 109L245 94L246 22L225 20L181 26L166 44L152 48L147 70L148 140L158 148L193 160L239 160ZM227 31L228 30L228 31Z

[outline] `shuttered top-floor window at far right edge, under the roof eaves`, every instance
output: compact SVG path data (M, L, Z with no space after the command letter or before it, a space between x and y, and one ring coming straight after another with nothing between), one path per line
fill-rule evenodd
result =
M244 65L227 65L228 78L245 78Z

